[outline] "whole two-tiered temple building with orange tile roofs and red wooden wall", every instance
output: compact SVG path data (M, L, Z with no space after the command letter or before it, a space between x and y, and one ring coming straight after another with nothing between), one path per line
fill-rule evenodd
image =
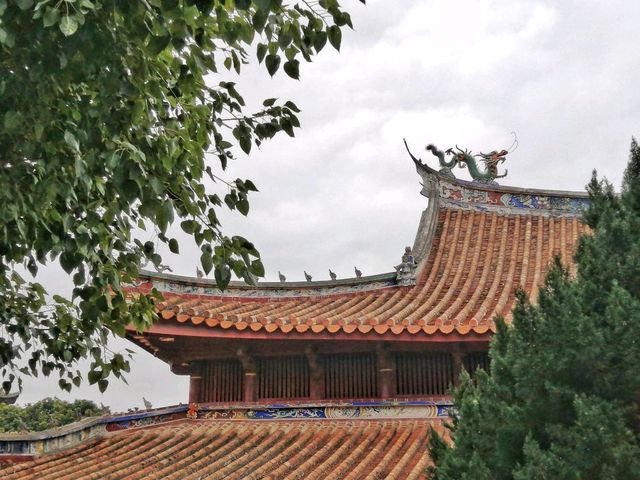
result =
M412 156L425 210L390 273L221 291L144 272L131 294L164 299L157 322L127 337L189 376L185 405L0 437L0 461L41 455L0 476L423 478L451 386L489 367L494 318L510 321L516 289L535 301L553 259L571 263L588 204L490 181L506 152L485 159L489 181L469 182L448 167L465 152L447 163L431 150L442 168Z

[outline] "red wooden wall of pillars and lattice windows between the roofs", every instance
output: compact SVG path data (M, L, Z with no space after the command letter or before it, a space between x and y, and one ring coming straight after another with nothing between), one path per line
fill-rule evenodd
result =
M373 399L447 395L464 367L472 376L489 368L486 352L365 352L201 362L198 402L285 399ZM387 359L387 360L384 360ZM249 370L246 370L246 369ZM198 378L198 377L196 377ZM249 382L250 383L247 383ZM246 388L250 387L250 388ZM314 392L312 394L312 392ZM249 398L249 397L251 398Z

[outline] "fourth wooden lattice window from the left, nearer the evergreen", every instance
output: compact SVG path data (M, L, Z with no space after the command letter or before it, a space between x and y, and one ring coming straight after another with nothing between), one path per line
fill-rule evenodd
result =
M395 362L398 395L446 395L453 384L449 353L397 353Z

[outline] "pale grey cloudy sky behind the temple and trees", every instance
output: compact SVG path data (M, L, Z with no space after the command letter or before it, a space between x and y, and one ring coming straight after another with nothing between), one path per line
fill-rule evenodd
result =
M322 280L329 268L347 277L354 265L374 274L397 264L425 208L403 138L434 165L427 143L487 151L507 148L516 132L503 184L581 190L594 168L619 184L631 136L640 135L639 2L343 4L355 31L339 54L303 65L299 82L260 68L235 79L250 101L291 99L303 110L295 138L240 155L226 173L260 189L247 218L224 219L227 233L257 244L268 280L278 270ZM198 253L185 247L166 260L194 275ZM46 273L51 287L60 277ZM122 411L141 407L143 395L154 406L187 400L187 379L141 350L128 382L104 395L89 386L62 395L55 380L26 379L21 403L58 395Z

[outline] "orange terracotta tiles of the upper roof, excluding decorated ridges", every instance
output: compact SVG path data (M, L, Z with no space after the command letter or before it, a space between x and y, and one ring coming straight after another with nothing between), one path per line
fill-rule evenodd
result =
M180 324L252 332L484 334L495 330L496 315L509 319L516 288L535 300L554 256L569 262L584 232L575 216L441 208L414 287L244 298L165 291L158 312Z

